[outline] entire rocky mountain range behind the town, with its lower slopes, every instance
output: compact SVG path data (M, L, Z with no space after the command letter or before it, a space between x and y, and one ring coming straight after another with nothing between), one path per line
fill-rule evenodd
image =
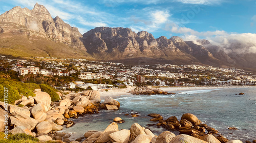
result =
M234 44L236 45L236 44ZM239 46L239 45L236 45ZM95 27L84 33L52 18L42 5L14 7L0 15L0 54L113 61L131 65L200 64L256 71L256 54L226 53L208 40L184 41L123 27Z

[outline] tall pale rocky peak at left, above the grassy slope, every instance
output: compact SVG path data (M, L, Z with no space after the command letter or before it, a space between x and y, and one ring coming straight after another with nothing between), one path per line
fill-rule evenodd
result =
M86 50L79 40L82 35L76 27L71 27L59 17L53 19L48 10L37 3L32 10L14 7L0 15L0 21L0 34L24 35L30 39L42 37Z

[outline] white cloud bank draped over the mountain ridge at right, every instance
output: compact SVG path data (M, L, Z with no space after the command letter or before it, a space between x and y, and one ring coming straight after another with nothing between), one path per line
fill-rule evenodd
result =
M193 41L196 44L199 44L198 39L207 39L211 44L223 47L227 53L256 53L256 34L227 33L219 30L198 32L188 27L180 27L176 23L168 23L165 30L182 34L181 37L185 41Z

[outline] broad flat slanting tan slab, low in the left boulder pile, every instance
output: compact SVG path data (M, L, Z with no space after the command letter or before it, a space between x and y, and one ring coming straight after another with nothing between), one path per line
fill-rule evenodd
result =
M13 112L13 117L10 117L11 125L14 126L24 126L29 130L33 130L35 126L39 123L37 120L28 117L20 112Z

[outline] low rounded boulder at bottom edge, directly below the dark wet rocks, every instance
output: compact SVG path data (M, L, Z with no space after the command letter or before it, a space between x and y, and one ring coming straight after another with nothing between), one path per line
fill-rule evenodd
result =
M204 140L198 139L196 137L186 135L186 134L180 134L175 136L172 140L170 140L169 143L180 143L181 141L183 142L197 142L197 143L208 143Z

